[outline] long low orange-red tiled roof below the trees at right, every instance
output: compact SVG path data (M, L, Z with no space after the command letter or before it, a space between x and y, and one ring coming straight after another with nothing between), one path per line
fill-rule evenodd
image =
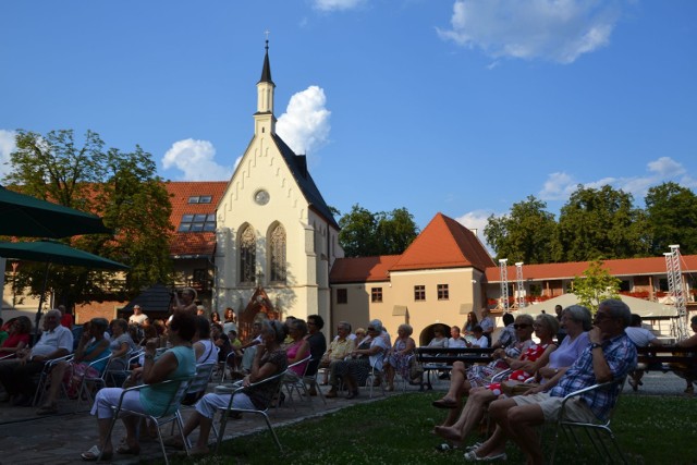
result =
M681 270L683 272L697 272L697 255L684 255L682 258ZM534 281L574 279L583 274L588 268L588 265L589 261L523 265L523 279ZM647 257L604 260L603 268L608 269L610 273L615 277L665 274L665 258ZM510 281L511 277L515 277L515 267L506 267L506 272ZM489 282L501 281L499 267L487 268L486 276Z

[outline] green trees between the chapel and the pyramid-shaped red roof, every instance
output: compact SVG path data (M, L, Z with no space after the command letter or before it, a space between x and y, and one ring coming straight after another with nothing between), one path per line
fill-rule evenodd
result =
M346 257L401 254L418 235L418 227L406 208L372 213L356 204L339 225L339 243Z

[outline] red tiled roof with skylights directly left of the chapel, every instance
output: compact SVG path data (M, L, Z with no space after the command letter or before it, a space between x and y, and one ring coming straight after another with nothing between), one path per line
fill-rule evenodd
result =
M215 213L220 197L222 197L227 181L191 181L168 182L164 184L172 203L170 222L174 227L174 235L170 253L172 255L212 255L216 249L216 233L213 232L176 232L182 216L189 213ZM189 204L193 196L210 195L210 204Z

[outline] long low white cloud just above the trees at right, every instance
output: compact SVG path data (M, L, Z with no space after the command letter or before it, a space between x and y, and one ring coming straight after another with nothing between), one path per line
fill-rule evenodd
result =
M675 182L684 187L694 188L697 182L686 174L685 168L670 157L661 157L647 163L648 173L644 176L632 178L601 178L596 181L579 183L573 176L564 172L551 173L548 175L542 189L538 197L542 200L568 200L568 197L576 191L578 184L583 184L587 188L600 188L610 185L613 188L622 189L634 196L635 200L640 201L649 187L659 185L664 182Z

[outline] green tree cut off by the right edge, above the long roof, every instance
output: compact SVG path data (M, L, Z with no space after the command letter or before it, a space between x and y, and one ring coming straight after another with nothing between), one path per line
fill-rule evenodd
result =
M649 188L646 212L651 232L651 255L680 244L682 254L697 254L697 196L687 187L669 182Z

